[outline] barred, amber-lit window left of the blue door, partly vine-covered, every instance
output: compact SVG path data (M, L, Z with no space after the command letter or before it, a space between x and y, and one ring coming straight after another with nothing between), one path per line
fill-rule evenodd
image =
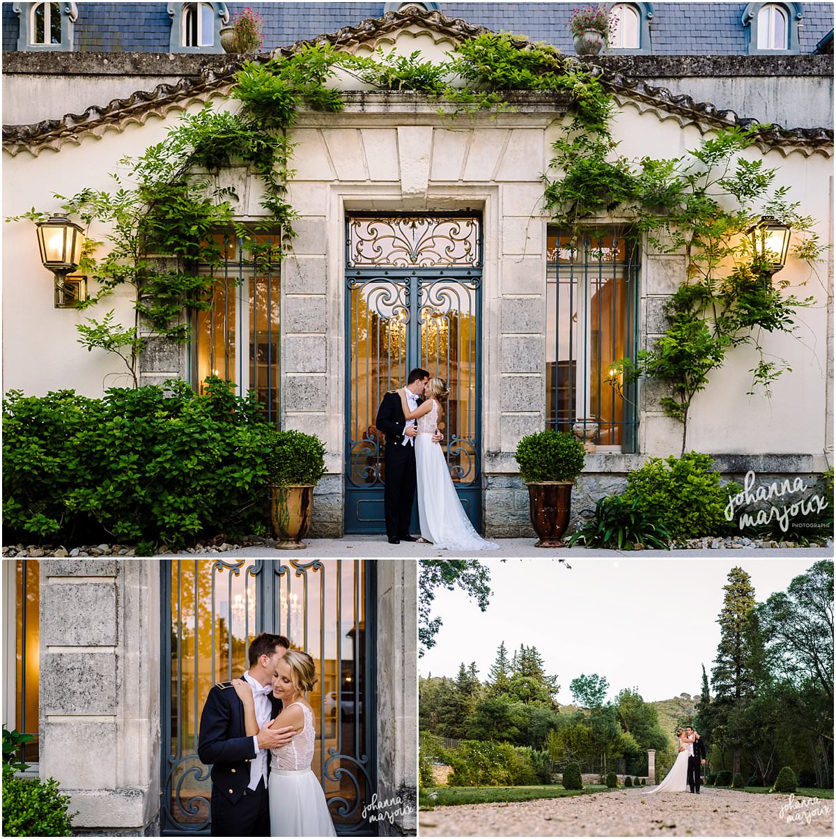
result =
M213 237L221 263L198 266L215 277L211 305L195 312L190 375L203 393L209 376L235 383L236 393L255 391L268 422L281 418L278 234Z

